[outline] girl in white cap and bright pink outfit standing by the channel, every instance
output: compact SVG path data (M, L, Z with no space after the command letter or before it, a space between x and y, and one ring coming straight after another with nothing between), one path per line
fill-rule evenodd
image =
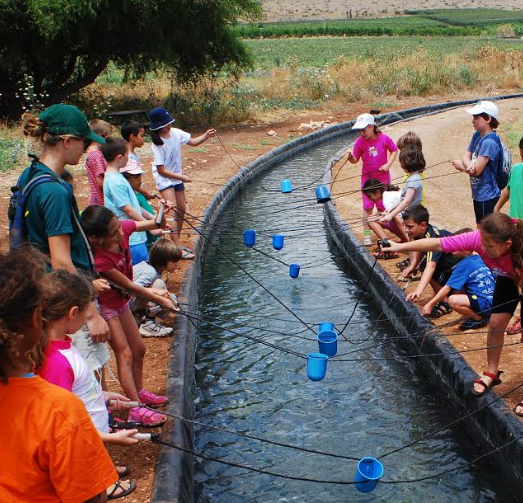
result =
M376 125L374 116L371 114L361 114L358 116L352 129L360 130L360 136L354 143L353 151L349 151L348 159L352 164L356 164L360 159L363 161L361 171L361 187L369 178L377 178L385 185L390 184L390 167L396 159L398 147L386 135L383 134ZM390 157L387 160L388 152ZM374 202L362 192L363 199L363 244L372 246L368 217L372 215L374 205L378 211L384 211L381 201Z

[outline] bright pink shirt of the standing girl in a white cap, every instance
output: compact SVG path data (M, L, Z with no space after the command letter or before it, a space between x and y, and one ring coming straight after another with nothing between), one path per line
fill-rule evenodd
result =
M356 159L363 162L361 169L362 184L369 178L377 178L382 182L390 182L389 171L379 171L384 164L387 164L388 153L396 152L398 147L386 134L379 133L374 140L365 140L359 137L354 143L352 153Z

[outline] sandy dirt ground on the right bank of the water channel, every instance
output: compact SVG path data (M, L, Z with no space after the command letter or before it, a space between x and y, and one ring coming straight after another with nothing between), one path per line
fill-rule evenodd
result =
M523 113L523 99L507 100L499 103L498 106L502 123L513 123L518 120ZM459 158L466 150L473 129L471 116L465 112L465 108L467 107L392 125L383 128L383 131L393 140L397 140L407 131L416 132L423 143L423 153L427 160L427 166L433 166L442 161ZM513 152L513 159L519 161L519 154L517 152ZM359 173L359 170L359 165L345 165L337 175L337 179L341 180L341 182L337 181L335 183L332 190L333 194L336 195L358 189L359 177L351 180L343 180ZM446 175L447 173L449 176L440 176ZM392 179L401 180L403 170L399 166L398 161L393 165L391 175ZM451 231L458 230L462 227L475 228L468 176L458 173L448 162L427 169L426 180L424 182L424 194L432 223ZM359 194L337 199L336 206L340 214L348 221L354 221L361 215L361 199ZM508 210L508 205L504 209ZM361 226L355 225L354 231L361 239ZM391 237L393 236L391 235ZM373 237L373 239L375 240L375 237ZM394 265L396 262L397 260L380 262L393 278L396 278L399 272ZM413 285L407 289L407 293L413 291L416 285L416 283L413 283ZM430 287L427 288L426 293L421 297L418 305L422 306L430 300L431 295L427 292L431 292ZM457 314L452 314L434 321L436 325L441 325L458 319L459 316ZM443 332L448 335L449 341L460 351L486 346L486 329L481 331L467 331L456 335L458 332L457 326L453 326L443 329ZM506 343L518 342L519 339L519 334L507 336ZM485 350L466 352L463 353L463 356L478 374L481 374L481 372L485 370ZM503 384L496 388L500 394L507 392L523 381L522 364L523 352L521 351L521 347L519 345L505 347L500 364L504 370ZM510 406L513 406L522 398L523 390L509 395L507 401Z

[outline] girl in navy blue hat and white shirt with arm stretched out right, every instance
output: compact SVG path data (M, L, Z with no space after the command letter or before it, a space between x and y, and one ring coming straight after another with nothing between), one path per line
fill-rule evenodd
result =
M182 145L196 147L212 138L216 131L208 129L202 135L191 138L189 133L181 129L172 128L174 119L165 108L153 108L147 116L151 121L149 129L153 142L153 176L156 187L167 201L176 204L176 232L171 234L172 240L179 244L180 234L185 217L185 190L184 183L190 183L191 179L182 173ZM184 254L182 258L193 259L194 253L186 247L182 247Z

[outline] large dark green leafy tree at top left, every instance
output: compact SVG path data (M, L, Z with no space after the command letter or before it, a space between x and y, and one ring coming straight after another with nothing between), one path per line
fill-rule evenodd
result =
M110 61L131 76L169 68L179 81L245 65L231 28L260 15L259 0L0 0L0 115L20 115L28 79L48 105Z

